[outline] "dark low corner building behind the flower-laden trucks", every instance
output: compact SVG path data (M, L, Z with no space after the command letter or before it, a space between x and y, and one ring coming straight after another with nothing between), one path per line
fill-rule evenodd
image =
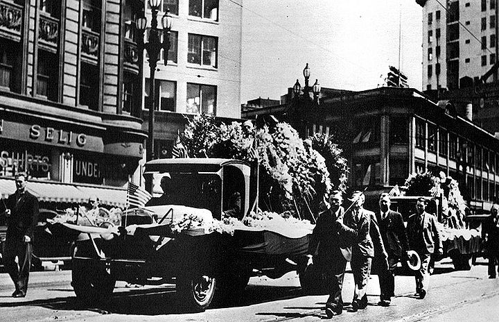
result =
M499 196L499 140L460 117L448 101L434 103L417 90L338 91L320 105L298 97L243 117L267 114L289 121L303 137L333 136L349 160L349 187L367 187L372 205L381 192L426 169L455 178L474 210L489 210Z

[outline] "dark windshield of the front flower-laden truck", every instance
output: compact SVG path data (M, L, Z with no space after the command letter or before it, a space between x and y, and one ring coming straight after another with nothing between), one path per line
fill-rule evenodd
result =
M155 173L154 182L162 204L204 208L220 217L222 180L216 173Z

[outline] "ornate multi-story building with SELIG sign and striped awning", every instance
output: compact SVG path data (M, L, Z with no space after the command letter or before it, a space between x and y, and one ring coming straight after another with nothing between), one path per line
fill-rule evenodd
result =
M132 103L140 3L0 0L1 196L24 170L42 203L125 205L147 138Z

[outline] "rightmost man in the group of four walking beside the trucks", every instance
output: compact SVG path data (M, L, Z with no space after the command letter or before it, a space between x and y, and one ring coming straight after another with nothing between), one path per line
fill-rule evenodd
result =
M416 278L416 295L423 299L428 291L430 255L443 253L437 219L426 212L425 198L418 198L416 214L412 214L408 219L407 233L410 249L416 251L421 260L421 268L415 272L414 277Z

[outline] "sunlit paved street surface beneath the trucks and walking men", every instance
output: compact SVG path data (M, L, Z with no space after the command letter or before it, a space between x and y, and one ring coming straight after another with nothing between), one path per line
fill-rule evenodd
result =
M346 309L335 321L499 321L499 279L489 280L487 262L479 259L471 271L453 271L449 260L437 263L425 299L414 297L414 277L396 277L396 298L380 307L378 277L369 282L369 306L349 312L353 277L343 287ZM241 298L212 303L202 313L175 307L175 287L126 287L118 282L111 302L103 307L80 303L70 285L71 271L30 274L26 298L12 298L12 282L0 273L0 321L321 321L327 296L304 296L296 273L277 280L251 278Z

